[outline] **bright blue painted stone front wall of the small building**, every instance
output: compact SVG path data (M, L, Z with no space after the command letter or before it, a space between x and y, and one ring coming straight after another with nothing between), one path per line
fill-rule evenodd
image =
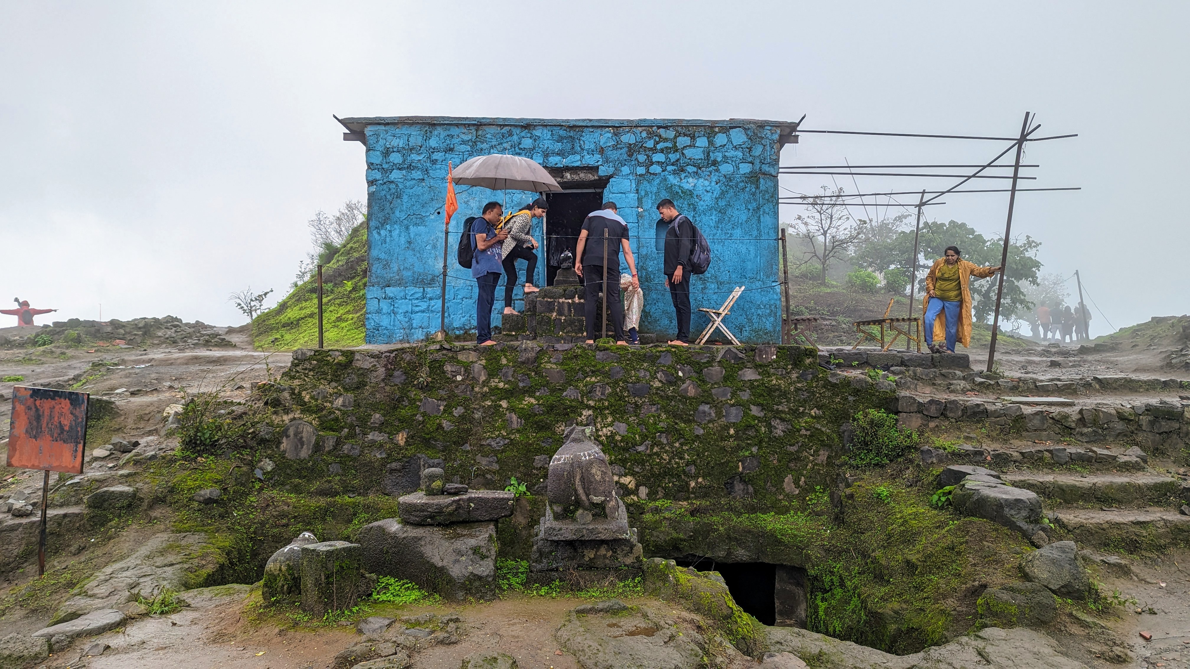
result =
M778 136L784 124L428 117L344 121L363 129L368 148L368 343L412 342L438 330L446 165L486 154L525 156L547 167L597 167L601 176L610 177L603 199L614 200L630 224L645 289L644 332L672 337L676 329L656 243L656 205L669 198L712 246L710 269L691 285L694 308L719 307L735 286L746 286L727 320L732 332L746 342L781 338L776 238ZM456 192L446 327L463 332L475 329L476 296L470 270L455 262L463 220L478 215L489 200L516 207L536 194L477 187ZM540 240L540 221L534 221L534 236ZM544 255L539 257L534 283L544 285ZM518 264L524 276L524 262ZM502 307L503 280L494 324ZM691 338L706 325L707 318L696 313Z

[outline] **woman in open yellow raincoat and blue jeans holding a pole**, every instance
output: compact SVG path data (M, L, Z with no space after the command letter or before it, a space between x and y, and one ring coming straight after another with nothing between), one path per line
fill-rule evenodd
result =
M934 261L926 275L925 312L926 345L935 354L942 348L934 344L934 330L945 329L946 351L954 352L954 344L971 345L971 277L987 279L1000 271L998 267L979 267L963 260L958 246L946 246L945 257Z

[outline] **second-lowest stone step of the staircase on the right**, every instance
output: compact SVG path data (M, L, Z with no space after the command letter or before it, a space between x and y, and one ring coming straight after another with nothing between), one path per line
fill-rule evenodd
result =
M1009 471L1001 480L1033 490L1042 499L1066 504L1100 502L1104 505L1167 505L1180 500L1183 483L1172 476L1138 474L1066 474L1045 471ZM1178 501L1178 505L1185 504Z

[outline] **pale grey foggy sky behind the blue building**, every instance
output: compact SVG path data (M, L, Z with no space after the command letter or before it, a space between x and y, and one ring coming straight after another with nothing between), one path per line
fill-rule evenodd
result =
M1079 137L1029 145L1042 167L1027 186L1084 190L1021 195L1014 235L1042 243L1044 271L1082 270L1116 327L1182 314L1188 14L1183 2L6 0L0 304L57 307L54 320L102 304L105 319L243 323L227 295L274 288L274 304L314 212L367 198L363 146L342 140L332 113L807 114L806 129L1013 136L1029 111L1042 135ZM983 163L1002 148L803 135L782 163ZM929 213L1003 232L1006 195L946 201ZM783 206L782 220L800 212ZM1092 315L1092 334L1110 331Z

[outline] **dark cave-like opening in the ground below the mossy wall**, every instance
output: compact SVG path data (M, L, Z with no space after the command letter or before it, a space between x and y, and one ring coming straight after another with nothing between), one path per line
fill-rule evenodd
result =
M768 562L679 559L682 567L719 571L732 599L765 625L806 629L806 569Z

